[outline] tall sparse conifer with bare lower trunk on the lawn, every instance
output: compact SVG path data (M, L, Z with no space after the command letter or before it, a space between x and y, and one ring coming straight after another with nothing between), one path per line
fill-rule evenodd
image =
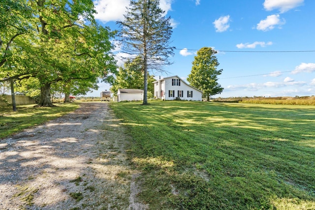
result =
M143 104L148 104L148 69L162 72L163 66L171 64L168 59L174 47L169 46L170 18L165 18L159 0L130 0L125 20L117 23L121 27L122 50L137 58L144 74Z

